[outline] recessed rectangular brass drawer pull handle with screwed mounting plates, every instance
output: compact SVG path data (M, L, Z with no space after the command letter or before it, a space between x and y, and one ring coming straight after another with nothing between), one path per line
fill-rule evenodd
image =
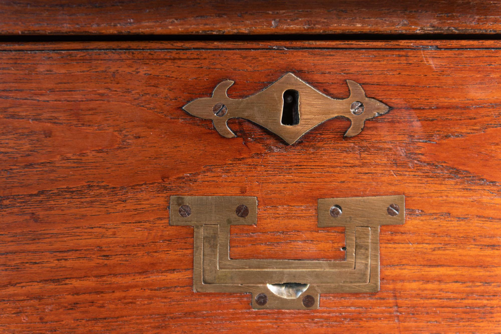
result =
M170 224L193 226L196 292L250 292L256 309L316 309L320 293L379 290L379 226L403 224L404 208L403 195L319 199L318 226L345 227L344 261L230 259L229 226L257 223L256 197L171 196Z

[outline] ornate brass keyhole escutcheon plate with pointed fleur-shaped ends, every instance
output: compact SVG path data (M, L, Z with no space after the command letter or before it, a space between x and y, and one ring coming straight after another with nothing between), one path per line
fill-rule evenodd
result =
M232 117L253 121L293 144L315 126L337 116L351 120L351 126L345 133L345 136L351 137L362 131L366 119L382 115L390 107L366 97L357 82L346 82L350 96L334 99L296 75L287 73L255 95L232 99L227 96L226 90L234 81L225 80L215 87L212 97L195 99L183 109L194 116L212 119L215 129L227 138L235 137L226 123Z

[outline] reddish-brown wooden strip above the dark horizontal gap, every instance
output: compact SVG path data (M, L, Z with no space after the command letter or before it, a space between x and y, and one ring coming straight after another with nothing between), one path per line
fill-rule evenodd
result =
M0 3L0 34L500 33L488 0L25 0Z

